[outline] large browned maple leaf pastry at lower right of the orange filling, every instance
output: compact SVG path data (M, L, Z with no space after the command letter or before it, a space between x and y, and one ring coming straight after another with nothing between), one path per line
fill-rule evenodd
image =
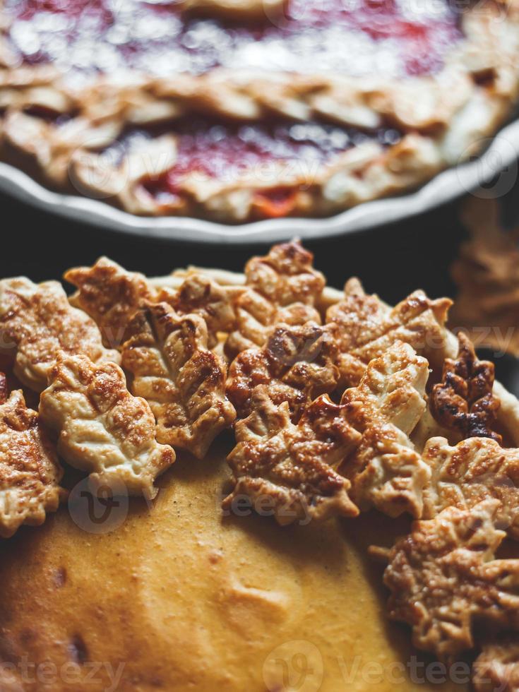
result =
M389 552L384 583L390 617L412 627L417 648L455 660L475 645L477 621L493 631L519 631L519 560L495 558L497 500L449 507L417 521Z

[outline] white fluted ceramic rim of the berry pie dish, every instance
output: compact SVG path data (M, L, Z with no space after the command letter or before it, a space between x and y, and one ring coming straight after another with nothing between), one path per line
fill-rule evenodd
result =
M283 218L225 225L188 217L138 217L102 201L45 189L15 167L0 162L0 190L23 203L107 231L153 239L217 243L275 242L297 235L319 239L403 221L477 189L499 197L517 177L519 120L503 128L482 155L441 172L405 196L366 202L328 218Z

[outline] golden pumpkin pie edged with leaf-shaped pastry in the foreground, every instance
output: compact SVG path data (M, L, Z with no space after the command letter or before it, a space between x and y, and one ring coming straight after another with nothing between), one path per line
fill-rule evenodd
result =
M471 674L478 691L515 681L519 402L447 330L448 300L415 292L390 308L358 280L330 289L297 242L244 275L146 278L104 258L66 277L98 343L123 334L121 366L67 352L42 319L37 352L52 366L39 415L0 376L0 534L18 531L0 541L2 690L20 686L29 657L36 670L73 667L74 690L88 689L97 660L97 688L117 674L143 692L289 690L306 661L309 689L335 692L347 675L355 692L411 692L406 667L426 660L384 622L383 583L414 646L446 675L465 667L461 686L425 677L421 688L466 690ZM54 282L39 290L56 296ZM222 346L240 333L248 292L273 311L299 302L318 321L265 321L261 342L228 364ZM25 313L40 320L30 301ZM8 328L0 321L0 335ZM341 379L344 362L354 367ZM234 441L215 439L225 428ZM70 469L61 479L53 435L91 489L144 496L109 532L77 506L19 528L42 523L60 482L77 481Z

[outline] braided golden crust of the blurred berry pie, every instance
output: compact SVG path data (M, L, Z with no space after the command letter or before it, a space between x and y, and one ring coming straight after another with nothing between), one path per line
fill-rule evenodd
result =
M261 10L263 21L267 15L282 27L280 5L278 0L185 0L179 10L186 16L202 13L210 21L225 16L239 22L247 16L253 26ZM515 0L463 6L456 28L461 37L448 43L439 71L400 78L350 76L318 67L308 74L268 71L239 67L238 59L232 69L216 66L166 77L126 70L124 77L101 73L78 85L52 64L20 65L9 39L16 19L5 1L0 13L4 158L57 189L102 198L134 214L246 222L338 213L412 189L470 157L508 117L518 97ZM339 145L324 160L303 156L299 163L304 165L292 165L297 155L267 156L267 174L258 165L246 165L246 150L239 150L237 171L226 177L189 161L185 166L181 124L197 117L208 126L317 122L325 130L335 126L335 135L353 129L363 136L356 145L342 150ZM232 127L225 142L236 141ZM384 129L390 136L381 141L376 133ZM152 135L133 148L124 140L128 131ZM201 156L210 148L208 142ZM225 167L227 172L231 167Z

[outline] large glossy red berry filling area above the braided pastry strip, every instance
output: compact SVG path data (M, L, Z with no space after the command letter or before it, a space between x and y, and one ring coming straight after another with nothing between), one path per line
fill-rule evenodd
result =
M460 39L446 0L288 0L254 25L186 18L172 1L6 0L11 44L28 63L76 74L124 68L159 76L217 66L347 74L438 71Z

